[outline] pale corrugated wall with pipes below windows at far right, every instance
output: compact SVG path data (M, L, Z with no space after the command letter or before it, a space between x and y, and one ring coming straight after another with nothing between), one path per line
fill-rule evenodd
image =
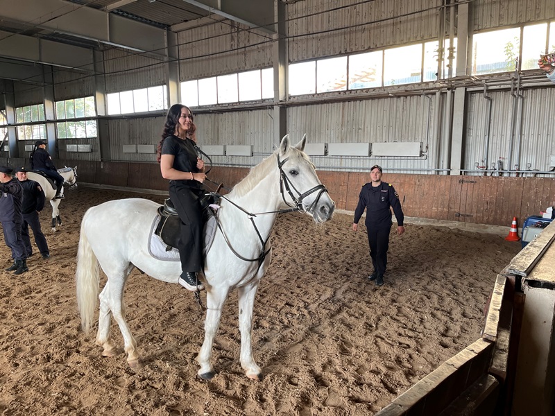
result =
M555 89L525 89L522 91L522 112L513 116L515 96L510 91L489 94L492 100L489 132L488 168L501 161L504 169L548 171L549 155L555 155ZM464 149L464 168L475 170L475 164L482 165L486 154L487 110L484 94L470 94L468 97L468 121ZM519 119L522 121L519 121ZM513 123L514 133L511 134ZM520 157L519 134L520 129ZM511 138L513 144L511 145ZM510 152L512 148L512 153ZM520 162L520 163L519 163ZM528 175L528 174L527 174Z

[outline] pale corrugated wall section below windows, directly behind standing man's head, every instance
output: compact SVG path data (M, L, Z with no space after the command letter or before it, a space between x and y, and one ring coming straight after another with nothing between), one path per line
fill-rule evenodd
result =
M435 105L442 104L436 104L432 95L291 107L289 130L307 133L309 143L420 142L422 157L312 157L323 169L356 171L380 164L388 170L416 173L437 168L441 137L434 122Z

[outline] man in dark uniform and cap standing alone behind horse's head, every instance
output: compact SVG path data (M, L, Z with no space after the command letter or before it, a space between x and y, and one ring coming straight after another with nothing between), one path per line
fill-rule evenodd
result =
M371 183L364 184L359 194L359 203L355 209L352 230L357 231L358 223L366 209L366 228L368 229L368 245L374 271L368 277L376 281L376 286L384 284L384 273L387 268L387 250L389 249L389 232L391 231L391 208L397 218L397 232L404 233L404 215L399 196L391 184L382 182L382 168L374 165L370 168Z

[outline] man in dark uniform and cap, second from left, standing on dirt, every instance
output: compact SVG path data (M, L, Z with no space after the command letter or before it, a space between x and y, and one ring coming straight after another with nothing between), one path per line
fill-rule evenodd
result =
M40 219L39 212L44 208L44 191L40 187L40 184L34 180L27 179L27 169L17 168L15 175L19 180L19 184L23 187L23 200L22 200L22 214L23 214L23 224L22 224L22 239L23 245L25 246L25 252L27 257L33 255L33 247L31 246L31 237L29 236L29 227L33 230L33 235L35 236L35 243L37 248L42 254L43 259L49 259L50 251L48 250L48 244L46 243L46 237L42 234L42 229L40 229Z

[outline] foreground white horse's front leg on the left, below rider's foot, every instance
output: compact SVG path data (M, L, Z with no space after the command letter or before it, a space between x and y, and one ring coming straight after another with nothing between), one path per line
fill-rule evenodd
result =
M225 300L228 298L229 288L216 289L212 286L206 293L206 320L204 321L204 342L200 347L200 352L196 357L196 361L200 365L197 374L200 379L210 380L216 372L212 367L212 345L214 337L220 327L221 309Z

